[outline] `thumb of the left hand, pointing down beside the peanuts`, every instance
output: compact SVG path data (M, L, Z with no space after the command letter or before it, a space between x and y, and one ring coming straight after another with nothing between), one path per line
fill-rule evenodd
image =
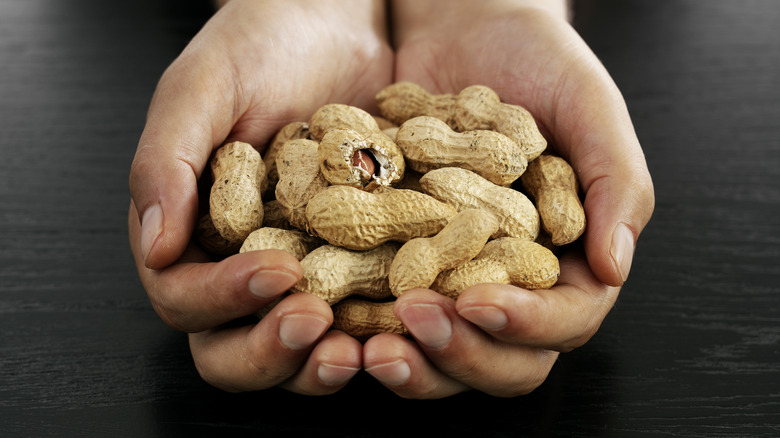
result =
M226 96L233 95L186 64L192 63L174 61L160 79L130 168L141 255L150 269L172 264L187 247L198 214L198 179L232 125Z

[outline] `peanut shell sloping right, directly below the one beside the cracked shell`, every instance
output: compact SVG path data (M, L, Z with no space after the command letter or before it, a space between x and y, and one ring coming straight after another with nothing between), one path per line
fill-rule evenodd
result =
M479 208L492 213L498 219L494 238L534 240L539 234L539 213L528 197L474 172L457 167L432 170L420 178L420 185L425 193L458 211Z

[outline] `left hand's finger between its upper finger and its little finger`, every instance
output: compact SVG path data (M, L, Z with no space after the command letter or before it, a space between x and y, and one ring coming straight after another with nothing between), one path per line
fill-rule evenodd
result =
M267 389L298 372L332 322L323 300L293 294L256 325L190 334L190 350L209 384L230 392Z

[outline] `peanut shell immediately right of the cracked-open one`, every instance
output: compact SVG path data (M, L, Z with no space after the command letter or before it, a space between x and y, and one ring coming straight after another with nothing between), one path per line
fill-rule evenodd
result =
M509 137L487 130L455 132L434 117L406 121L398 129L396 143L407 166L422 173L460 167L495 184L509 185L528 165L523 151Z

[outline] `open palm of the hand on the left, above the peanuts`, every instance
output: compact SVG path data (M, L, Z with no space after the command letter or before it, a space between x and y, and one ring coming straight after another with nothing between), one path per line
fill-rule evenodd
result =
M219 53L216 60L204 56L200 64L217 85L229 86L216 102L227 97L222 104L235 119L215 128L230 128L233 138L262 146L284 122L306 120L325 103L370 109L392 78L392 52L380 32L356 38L333 26L339 17L294 7L231 6L198 38L222 43L209 48Z

